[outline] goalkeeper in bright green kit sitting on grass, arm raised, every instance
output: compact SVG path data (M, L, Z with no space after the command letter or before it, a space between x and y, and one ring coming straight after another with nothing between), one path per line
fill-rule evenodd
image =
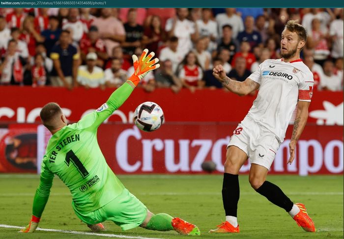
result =
M67 125L60 106L45 105L40 117L53 134L43 158L40 184L33 199L32 218L21 232L34 232L48 201L56 174L72 193L77 216L92 231L104 231L102 222L111 220L122 230L141 226L148 230L200 235L197 226L166 213L153 214L131 194L110 169L97 142L97 129L130 96L135 86L149 72L157 69L159 60L145 49L140 57L133 55L134 74L108 101L79 122Z

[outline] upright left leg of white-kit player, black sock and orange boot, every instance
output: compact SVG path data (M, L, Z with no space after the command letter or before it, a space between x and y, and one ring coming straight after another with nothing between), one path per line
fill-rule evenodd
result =
M232 137L231 143L235 143L243 149L246 147L241 141L235 140L234 137ZM210 230L210 233L239 232L237 222L237 208L240 196L239 170L248 159L248 156L238 146L230 145L226 153L225 173L222 184L222 200L226 212L226 221L220 224L217 229Z

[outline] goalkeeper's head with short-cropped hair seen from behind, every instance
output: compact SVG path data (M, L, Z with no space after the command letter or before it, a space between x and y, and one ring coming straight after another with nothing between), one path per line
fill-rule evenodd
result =
M43 125L53 134L67 125L67 119L61 107L54 102L43 106L39 116Z

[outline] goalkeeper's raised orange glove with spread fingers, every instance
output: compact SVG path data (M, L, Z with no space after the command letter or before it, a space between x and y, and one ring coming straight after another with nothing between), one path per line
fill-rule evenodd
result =
M133 55L133 62L134 62L134 70L135 71L134 71L133 75L128 80L133 82L133 84L135 86L138 85L140 80L145 75L147 75L149 71L158 69L160 67L160 64L155 64L155 63L159 62L158 58L154 58L153 60L151 60L153 58L153 56L155 55L155 53L151 52L148 55L147 55L147 53L148 53L148 49L144 49L140 59L138 59L138 57L136 55Z

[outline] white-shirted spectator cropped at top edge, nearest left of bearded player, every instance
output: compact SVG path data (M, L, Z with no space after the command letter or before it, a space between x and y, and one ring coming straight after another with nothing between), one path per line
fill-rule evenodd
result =
M225 25L232 27L232 37L234 39L236 39L239 32L244 30L244 23L241 17L235 14L235 8L226 8L226 13L217 14L216 22L219 27L220 36L222 36L222 27Z

